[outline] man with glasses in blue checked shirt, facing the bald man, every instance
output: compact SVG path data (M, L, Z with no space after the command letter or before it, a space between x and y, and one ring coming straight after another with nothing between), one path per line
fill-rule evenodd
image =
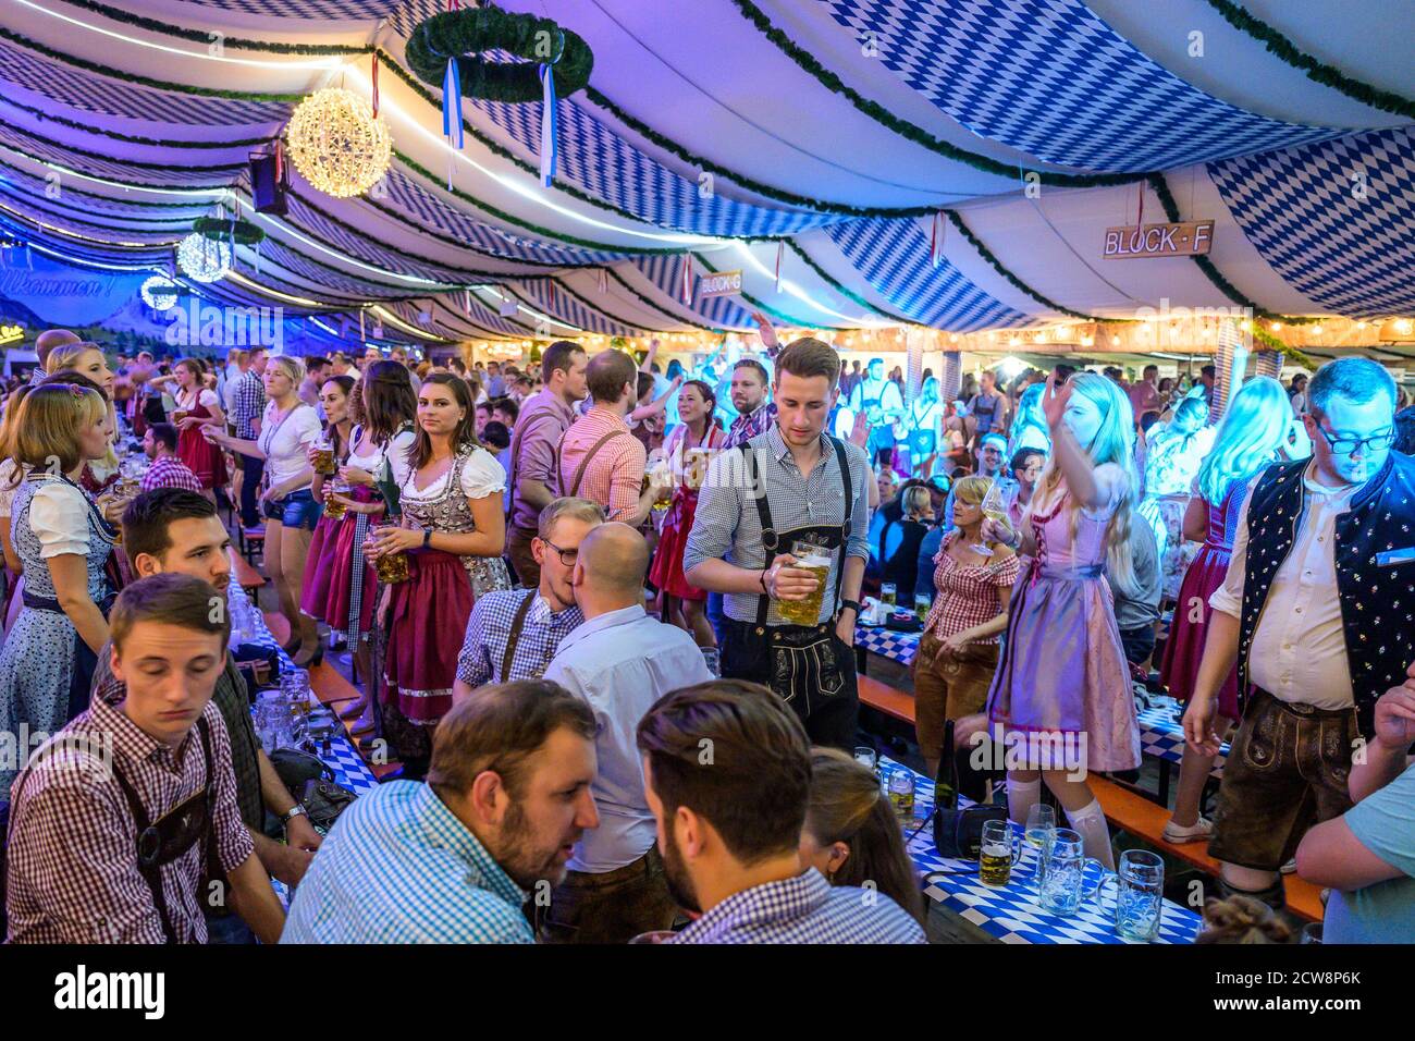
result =
M451 688L458 704L487 683L539 680L563 640L583 620L570 584L580 542L604 523L604 510L589 499L556 499L541 510L531 541L541 572L533 589L483 593L467 619Z

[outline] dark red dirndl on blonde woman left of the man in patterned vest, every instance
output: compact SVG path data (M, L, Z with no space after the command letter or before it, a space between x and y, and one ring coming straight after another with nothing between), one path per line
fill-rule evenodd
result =
M1208 619L1213 615L1208 598L1228 575L1234 535L1238 533L1238 518L1242 514L1244 489L1242 482L1234 482L1218 506L1206 503L1208 534L1179 586L1174 620L1169 626L1165 660L1159 670L1165 687L1179 701L1189 701L1199 680L1199 663L1204 657L1204 640L1208 639ZM1228 719L1240 717L1237 664L1218 690L1218 712Z

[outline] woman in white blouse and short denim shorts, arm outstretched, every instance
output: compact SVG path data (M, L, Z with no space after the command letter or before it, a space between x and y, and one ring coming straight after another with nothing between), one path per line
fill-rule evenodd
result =
M290 357L270 358L263 382L266 398L260 436L241 440L204 426L205 436L222 448L265 460L266 489L260 493L260 511L266 518L265 565L280 599L280 613L290 623L290 643L284 644L294 664L301 669L324 659L314 619L300 610L304 567L310 540L320 518L310 484L310 446L320 436L320 416L300 401L304 367Z

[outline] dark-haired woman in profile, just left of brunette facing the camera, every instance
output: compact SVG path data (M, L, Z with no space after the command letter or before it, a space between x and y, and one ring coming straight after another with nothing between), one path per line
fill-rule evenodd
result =
M369 524L388 511L379 484L391 484L392 460L403 466L416 440L417 397L408 368L396 361L374 363L350 397L350 406L355 425L350 431L348 459L340 467L340 479L352 491L337 496L330 483L323 489L324 501L342 501L345 513L331 521L335 528L325 554L333 557L333 567L318 618L348 643L361 683L359 697L340 715L354 719L350 732L355 739L372 741L376 724L369 691L376 688L372 636L378 576L364 557L364 542Z

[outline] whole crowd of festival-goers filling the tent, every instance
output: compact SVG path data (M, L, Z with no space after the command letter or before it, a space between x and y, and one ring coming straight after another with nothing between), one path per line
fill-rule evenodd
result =
M1087 778L1139 766L1153 667L1189 705L1166 838L1268 906L1295 860L1339 894L1329 940L1415 935L1415 462L1385 370L1227 402L1213 367L947 394L925 370L911 394L761 340L693 372L556 341L532 372L259 347L109 368L41 336L0 425L0 729L40 735L0 763L10 939L923 942L896 817L842 752L862 602L900 595L930 772L1016 744L1009 816L1046 786L1111 865ZM221 500L263 541L284 652L347 646L351 734L402 763L327 836L250 724L269 652L211 606Z

